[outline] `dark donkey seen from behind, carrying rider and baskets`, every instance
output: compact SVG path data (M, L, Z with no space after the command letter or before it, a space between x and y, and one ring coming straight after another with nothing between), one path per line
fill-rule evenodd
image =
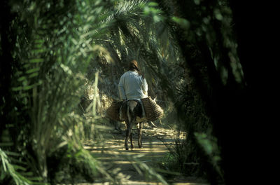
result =
M142 117L142 107L141 103L137 100L128 100L123 103L122 106L122 114L123 118L125 119L125 124L127 125L127 130L125 132L125 149L128 150L127 142L128 137L130 137L130 148L134 149L134 145L132 142L132 127L134 124L137 124L137 117ZM143 122L139 122L138 131L138 146L139 149L142 148L142 128Z

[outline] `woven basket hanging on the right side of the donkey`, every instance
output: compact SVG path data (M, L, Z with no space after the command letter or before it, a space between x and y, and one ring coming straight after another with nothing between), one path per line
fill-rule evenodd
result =
M162 108L151 97L142 98L141 101L148 121L155 121L163 116Z

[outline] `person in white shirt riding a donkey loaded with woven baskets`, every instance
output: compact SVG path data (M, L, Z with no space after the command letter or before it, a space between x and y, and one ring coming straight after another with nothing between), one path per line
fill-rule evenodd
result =
M134 148L131 131L132 126L138 123L138 146L142 148L143 122L148 122L151 127L156 127L152 121L162 118L164 111L155 100L148 96L148 84L144 75L141 74L136 60L129 63L128 71L120 77L118 91L120 101L113 100L111 106L106 110L106 117L111 121L125 121L127 125L125 149L127 150L129 137L131 148Z

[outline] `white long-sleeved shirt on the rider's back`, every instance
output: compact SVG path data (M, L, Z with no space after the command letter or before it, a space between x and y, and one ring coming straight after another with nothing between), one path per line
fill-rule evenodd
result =
M146 79L139 76L137 71L127 71L120 77L118 83L120 100L140 100L148 97L148 84Z

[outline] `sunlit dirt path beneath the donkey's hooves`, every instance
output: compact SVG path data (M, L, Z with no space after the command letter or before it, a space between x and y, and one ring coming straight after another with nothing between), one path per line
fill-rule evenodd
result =
M124 128L122 129L124 130ZM167 157L169 150L167 146L174 144L173 130L163 128L147 128L143 130L142 142L144 148L139 149L137 145L137 130L132 130L134 149L128 151L124 147L125 132L109 130L106 135L106 142L99 146L87 146L87 149L94 153L106 169L118 174L121 184L205 184L203 180L192 177L183 177L172 174L172 179L161 181L154 169ZM183 135L181 135L183 137ZM160 139L159 139L160 138ZM162 142L164 141L164 142ZM130 143L129 143L130 146ZM94 184L109 184L94 183Z

